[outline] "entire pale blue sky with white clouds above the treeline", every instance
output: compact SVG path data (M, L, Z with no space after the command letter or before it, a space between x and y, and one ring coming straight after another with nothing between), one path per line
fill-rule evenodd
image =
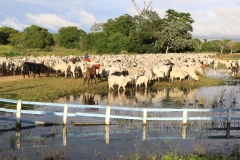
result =
M147 5L150 1L145 0ZM140 9L143 2L136 0ZM190 13L194 38L240 41L240 0L153 0L151 8L161 18L168 9ZM1 0L0 27L22 31L34 24L57 33L77 26L89 32L94 23L124 14L137 14L131 0Z

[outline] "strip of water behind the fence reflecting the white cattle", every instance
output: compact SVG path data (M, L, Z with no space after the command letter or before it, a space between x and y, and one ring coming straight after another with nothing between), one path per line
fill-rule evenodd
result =
M224 85L199 89L164 88L155 91L109 91L63 97L57 103L148 108L231 108L240 102L240 86Z

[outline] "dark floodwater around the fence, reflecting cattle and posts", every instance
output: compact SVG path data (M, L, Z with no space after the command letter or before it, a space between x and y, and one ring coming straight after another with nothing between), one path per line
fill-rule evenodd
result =
M56 102L132 108L238 108L240 88L239 85L232 85L232 82L239 82L230 78L232 73L212 69L208 69L206 73L209 77L225 79L226 85L194 90L165 88L151 92L130 90L119 93L110 91L103 95L85 93L63 97ZM35 106L35 110L62 112L63 108ZM105 110L69 108L69 112L105 113ZM14 117L12 114L4 116ZM62 117L57 116L24 115L22 118L62 121ZM164 154L169 150L178 150L181 153L196 150L200 152L202 148L230 155L240 144L239 122L234 122L231 126L222 121L214 124L196 122L191 126L182 126L180 121L161 121L142 126L138 121L113 119L114 125L110 126L78 125L79 122L104 122L103 118L93 117L69 117L66 126L23 123L21 127L16 127L15 122L0 122L0 157L6 159L14 156L25 159L51 156L70 159L116 159L136 150L144 156L149 150Z

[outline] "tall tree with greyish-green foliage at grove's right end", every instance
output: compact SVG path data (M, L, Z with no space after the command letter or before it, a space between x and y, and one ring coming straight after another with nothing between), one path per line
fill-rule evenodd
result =
M192 26L194 20L189 13L178 13L174 10L166 11L162 29L156 33L156 45L173 51L185 51L193 48Z

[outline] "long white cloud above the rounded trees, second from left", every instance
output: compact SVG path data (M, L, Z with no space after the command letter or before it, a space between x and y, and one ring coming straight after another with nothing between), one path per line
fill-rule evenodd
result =
M27 14L26 17L28 18L29 21L31 21L31 23L34 23L43 28L48 28L55 31L57 31L61 27L67 27L67 26L80 27L79 24L68 22L56 16L55 14L38 14L38 15Z

